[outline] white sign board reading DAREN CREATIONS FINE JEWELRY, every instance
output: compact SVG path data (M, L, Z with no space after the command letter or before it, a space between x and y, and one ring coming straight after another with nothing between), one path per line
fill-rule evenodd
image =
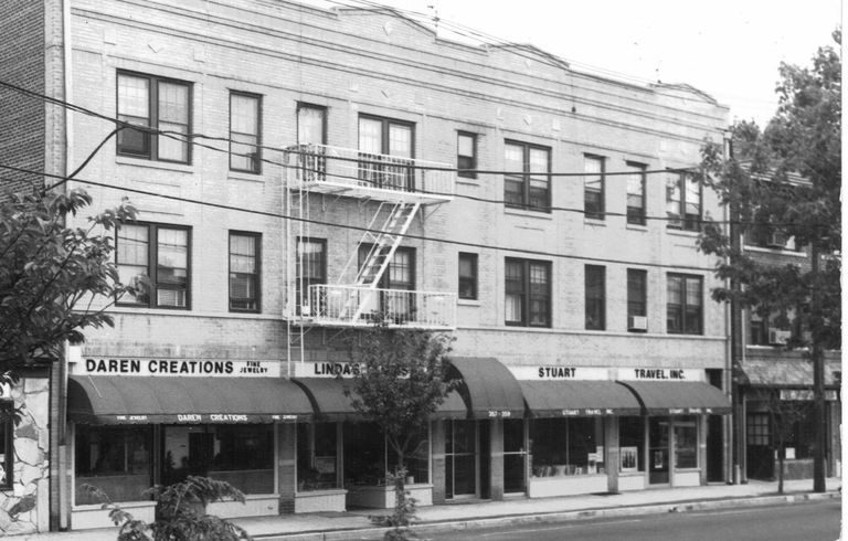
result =
M229 359L85 358L70 364L74 375L170 375L279 378L279 361Z

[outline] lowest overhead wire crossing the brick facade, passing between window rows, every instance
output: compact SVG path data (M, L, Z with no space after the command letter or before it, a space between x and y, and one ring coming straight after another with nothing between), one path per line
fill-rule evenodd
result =
M255 209L244 209L241 206L233 206L229 204L223 203L213 203L210 201L202 201L197 199L189 199L189 198L182 198L178 195L168 195L163 193L157 193L149 190L139 190L136 188L127 188L127 187L119 187L114 184L107 184L104 182L96 182L93 180L85 180L85 179L68 179L67 177L62 177L60 174L51 174L46 172L40 172L40 171L33 171L31 169L14 167L14 166L8 166L4 163L0 163L0 169L9 169L12 171L19 171L24 173L31 173L35 176L43 176L43 177L51 177L55 179L60 179L63 181L67 180L75 180L76 182L83 182L86 184L92 184L100 188L107 188L112 190L119 190L130 193L138 193L141 195L151 195L155 198L162 198L162 199L170 199L173 201L179 201L182 203L192 203L192 204L199 204L203 206L211 206L214 209L222 209L227 211L236 211L236 212L244 212L246 214L256 214L266 218L277 218L282 220L288 220L293 222L301 222L301 223L308 223L314 225L324 225L327 227L336 227L341 230L350 230L350 231L359 231L363 233L371 233L371 234L380 234L382 233L382 230L372 230L369 227L362 227L359 225L346 225L346 224L339 224L339 223L332 223L332 222L325 222L321 220L314 220L314 219L306 219L301 216L292 216L283 213L277 212L267 212L267 211L259 211ZM619 265L633 265L633 266L640 266L640 267L655 267L655 268L677 268L677 269L687 269L687 270L701 270L701 272L714 272L714 267L699 267L695 265L665 265L660 263L646 263L646 262L634 262L634 261L625 261L625 259L610 259L610 258L602 258L602 257L589 257L589 256L579 256L579 255L571 255L571 254L558 254L554 252L543 252L543 251L537 251L537 250L528 250L522 247L508 247L508 246L497 246L491 244L480 244L480 243L473 243L473 242L465 242L465 241L455 241L449 238L437 238L433 236L426 236L426 235L415 235L411 233L404 233L403 235L398 234L398 236L402 236L403 238L410 238L414 241L424 241L424 242L433 242L433 243L442 243L442 244L451 244L456 246L465 246L465 247L474 247L479 250L494 250L494 251L505 251L505 252L517 252L521 254L528 254L528 255L534 255L534 256L542 256L542 257L556 257L562 259L572 259L572 261L582 261L582 262L594 262L594 263L614 263Z

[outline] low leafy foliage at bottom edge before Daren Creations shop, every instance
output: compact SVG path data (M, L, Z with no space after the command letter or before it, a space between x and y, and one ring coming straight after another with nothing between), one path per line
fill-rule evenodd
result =
M206 506L214 501L231 499L244 503L244 494L226 481L189 476L184 481L170 486L148 488L144 496L156 501L156 520L151 524L121 509L102 489L93 485L81 488L98 499L103 509L109 510L109 519L118 527L118 541L252 539L240 526L205 512Z

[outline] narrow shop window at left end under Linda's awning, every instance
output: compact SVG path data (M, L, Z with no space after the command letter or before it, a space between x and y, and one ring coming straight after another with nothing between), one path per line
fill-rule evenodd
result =
M338 425L297 425L297 490L339 488Z

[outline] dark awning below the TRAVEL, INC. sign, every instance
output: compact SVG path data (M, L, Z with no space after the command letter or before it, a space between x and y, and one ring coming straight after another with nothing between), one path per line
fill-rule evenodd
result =
M621 381L629 388L649 415L695 415L731 412L720 389L699 381Z

